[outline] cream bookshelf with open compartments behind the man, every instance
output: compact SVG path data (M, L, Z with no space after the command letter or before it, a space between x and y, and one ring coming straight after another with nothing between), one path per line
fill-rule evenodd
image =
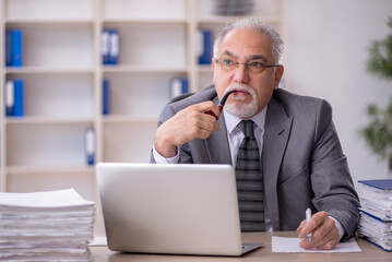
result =
M283 29L282 1L254 1L251 16ZM198 66L198 28L216 32L238 16L216 16L211 0L0 0L0 190L75 188L98 201L84 130L94 128L97 162L150 162L169 81L191 92L212 83ZM5 31L23 31L23 67L5 67ZM100 33L120 35L117 66L102 66ZM4 82L23 79L24 117L5 117ZM102 82L110 114L102 115ZM104 235L97 204L96 235Z

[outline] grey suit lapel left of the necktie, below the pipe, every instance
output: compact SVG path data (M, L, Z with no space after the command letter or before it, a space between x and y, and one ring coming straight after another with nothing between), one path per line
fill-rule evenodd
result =
M217 96L213 102L215 104L218 103ZM228 145L226 122L223 114L218 120L219 131L212 132L210 138L204 140L204 143L210 163L231 165L230 147Z

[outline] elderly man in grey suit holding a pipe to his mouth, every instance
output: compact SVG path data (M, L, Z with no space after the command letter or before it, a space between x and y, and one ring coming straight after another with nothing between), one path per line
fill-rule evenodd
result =
M214 41L214 85L164 108L152 162L230 164L242 231L297 229L302 248L332 249L354 235L358 198L331 106L278 88L282 52L263 22L228 24Z

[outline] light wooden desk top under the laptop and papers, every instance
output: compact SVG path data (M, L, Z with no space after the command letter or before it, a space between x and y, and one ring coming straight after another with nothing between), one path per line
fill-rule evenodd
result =
M155 255L155 254L132 254L110 251L107 247L92 247L95 262L123 262L123 261L159 261L159 262L223 262L223 261L392 261L392 253L383 251L364 239L357 239L361 253L272 253L271 237L296 237L294 231L281 233L245 233L243 242L262 242L263 247L251 251L239 258L230 257L197 257L197 255Z

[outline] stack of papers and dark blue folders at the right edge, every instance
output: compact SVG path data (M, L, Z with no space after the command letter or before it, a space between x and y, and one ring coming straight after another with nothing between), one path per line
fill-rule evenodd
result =
M392 251L392 179L359 181L358 195L359 236Z

